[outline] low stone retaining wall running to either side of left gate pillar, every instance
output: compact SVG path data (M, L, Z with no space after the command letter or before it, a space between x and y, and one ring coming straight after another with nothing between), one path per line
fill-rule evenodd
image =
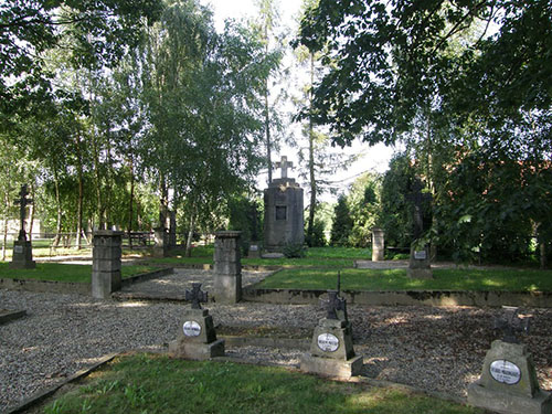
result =
M148 272L136 275L121 280L123 286L132 285L138 282L153 279L172 274L173 268L163 268L155 272ZM52 294L77 294L77 295L92 295L92 284L74 283L74 282L54 282L54 280L35 280L35 279L10 279L0 278L0 289L10 290L26 290L36 293L52 293Z

